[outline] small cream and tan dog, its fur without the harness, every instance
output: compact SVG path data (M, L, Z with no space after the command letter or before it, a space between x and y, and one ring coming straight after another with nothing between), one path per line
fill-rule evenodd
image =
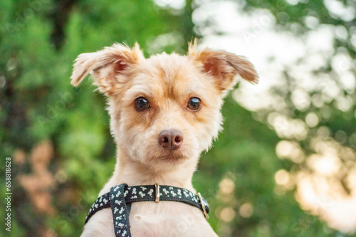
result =
M189 44L187 55L145 58L140 46L115 43L76 58L71 84L92 76L108 98L110 132L117 145L115 171L99 196L117 184L170 185L196 194L192 176L201 152L221 131L221 105L237 78L257 83L242 56ZM130 209L132 236L217 236L194 206L142 201ZM115 236L112 211L102 209L81 236ZM124 235L122 235L124 236Z

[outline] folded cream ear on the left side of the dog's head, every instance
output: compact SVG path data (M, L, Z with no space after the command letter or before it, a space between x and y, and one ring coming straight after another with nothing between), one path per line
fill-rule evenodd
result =
M144 58L137 43L132 49L115 43L102 51L82 53L75 59L70 83L77 86L90 73L101 93L113 95L118 84L117 75L125 73L127 68Z

